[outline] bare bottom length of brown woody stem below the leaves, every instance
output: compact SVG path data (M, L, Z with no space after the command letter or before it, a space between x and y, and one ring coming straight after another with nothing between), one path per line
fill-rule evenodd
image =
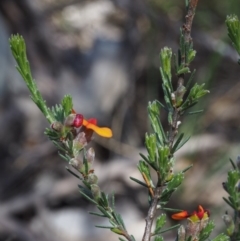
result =
M151 206L148 210L148 215L146 217L146 227L145 227L142 241L149 241L151 239L152 224L157 211L157 204L161 196L161 193L162 193L162 187L157 187L155 189L155 194L154 194Z

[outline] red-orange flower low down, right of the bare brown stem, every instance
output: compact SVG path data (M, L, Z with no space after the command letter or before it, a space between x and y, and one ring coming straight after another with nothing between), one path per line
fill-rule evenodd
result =
M189 218L193 222L198 222L199 220L207 219L210 216L210 213L208 210L204 210L201 205L198 206L198 210L194 211L192 213L189 213L187 211L182 211L179 213L175 213L172 215L172 219L175 220L182 220L185 218Z

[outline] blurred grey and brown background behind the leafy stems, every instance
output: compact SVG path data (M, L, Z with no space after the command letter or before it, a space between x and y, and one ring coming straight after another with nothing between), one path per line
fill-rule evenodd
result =
M191 67L197 69L195 81L205 82L211 93L197 105L202 114L182 119L180 130L192 137L177 153L175 171L194 166L169 203L188 210L202 204L211 210L216 233L224 230L221 216L231 212L221 184L231 168L228 159L240 153L240 67L224 23L228 14L240 16L239 4L199 1ZM0 240L117 240L94 227L107 221L87 213L94 207L44 136L48 123L15 70L10 35L25 38L49 106L71 94L79 113L113 129L111 140L96 137L92 143L95 172L101 188L116 193L117 210L139 240L147 195L129 176L139 177L136 164L150 131L147 103L163 99L160 49L177 51L184 14L184 0L0 1ZM161 119L167 128L166 113ZM166 240L173 237L166 234Z

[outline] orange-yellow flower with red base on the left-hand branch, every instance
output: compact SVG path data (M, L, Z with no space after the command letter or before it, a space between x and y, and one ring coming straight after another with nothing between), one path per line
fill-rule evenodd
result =
M72 109L72 114L76 114L74 109ZM79 114L77 114L77 115L79 115ZM112 130L107 128L107 127L99 127L99 126L97 126L97 120L94 119L94 118L91 118L89 120L83 119L82 120L82 125L86 129L93 130L94 132L96 132L98 135L100 135L102 137L107 137L107 138L112 137ZM79 126L75 126L75 127L78 128Z

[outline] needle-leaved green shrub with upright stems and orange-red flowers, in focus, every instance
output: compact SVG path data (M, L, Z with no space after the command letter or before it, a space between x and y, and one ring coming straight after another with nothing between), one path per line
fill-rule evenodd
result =
M162 234L176 228L178 229L176 235L178 241L210 240L209 236L214 228L214 222L210 220L210 212L201 205L198 205L193 212L166 208L172 193L181 185L184 173L191 168L191 166L186 167L178 173L173 171L175 153L189 139L184 133L179 132L180 119L185 113L200 113L200 110L189 112L189 109L209 93L204 89L204 84L192 84L195 70L190 69L190 63L196 56L191 38L191 27L197 2L198 0L185 0L187 14L185 23L180 29L178 53L173 54L168 47L164 47L160 52L164 103L155 100L148 104L148 117L153 131L145 136L147 155L140 154L138 170L142 175L142 180L130 177L132 181L146 188L148 193L149 209L142 241L151 239L163 241ZM236 16L230 16L226 23L233 45L240 53L239 21ZM59 105L47 107L32 77L23 37L11 36L10 48L17 62L17 70L31 93L31 99L50 124L45 134L57 147L59 155L69 163L70 167L67 167L67 170L81 181L79 191L82 196L99 210L90 212L90 214L109 220L109 226L96 227L110 229L120 236L120 241L135 241L134 236L127 230L123 218L115 209L114 194L108 195L99 187L98 176L93 167L95 152L93 148L88 148L94 132L102 137L111 138L111 129L99 127L96 119L86 120L82 114L76 113L69 95L64 96ZM177 76L176 84L173 83L172 76ZM174 88L174 85L177 87ZM162 111L166 111L168 115L167 130L164 130L160 120ZM223 183L223 187L229 194L229 197L224 200L234 209L234 216L228 213L223 215L226 235L220 234L212 239L213 241L240 240L240 185L238 184L240 158L236 164L233 161L231 163L233 170L229 171L228 179ZM171 217L175 220L187 219L186 225L178 224L165 228L166 211L174 212Z

